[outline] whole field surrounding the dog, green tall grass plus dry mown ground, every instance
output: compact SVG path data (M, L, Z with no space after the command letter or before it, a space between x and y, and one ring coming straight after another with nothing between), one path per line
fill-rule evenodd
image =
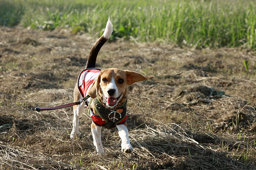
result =
M73 87L111 17L99 68L155 78L128 87L134 152L116 129L97 155L85 111L69 138ZM256 2L253 0L0 0L3 170L255 170Z

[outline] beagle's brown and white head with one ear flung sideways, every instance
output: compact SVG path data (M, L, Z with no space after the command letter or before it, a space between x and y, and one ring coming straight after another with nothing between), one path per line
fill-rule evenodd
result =
M115 107L126 99L127 85L153 78L154 76L143 76L134 71L108 68L100 71L88 94L92 98L99 95L105 105Z

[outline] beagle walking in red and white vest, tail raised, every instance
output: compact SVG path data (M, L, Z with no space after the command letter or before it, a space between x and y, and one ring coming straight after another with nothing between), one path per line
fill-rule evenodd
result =
M134 71L125 71L118 68L100 70L96 68L96 58L100 48L110 38L113 26L108 19L103 35L91 48L86 68L80 73L74 89L74 101L86 99L80 105L73 106L73 129L70 138L74 139L79 132L79 117L87 107L92 118L91 132L93 144L97 153L104 153L101 142L102 126L117 127L122 140L122 151L132 153L133 148L128 137L126 124L127 86L135 82L152 79L154 76L143 76Z

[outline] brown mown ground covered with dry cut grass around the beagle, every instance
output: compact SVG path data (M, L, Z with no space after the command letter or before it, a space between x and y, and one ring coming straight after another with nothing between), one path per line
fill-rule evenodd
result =
M96 39L0 27L1 169L256 169L256 51L244 47L107 42L97 67L155 76L128 87L130 155L115 129L102 131L97 155L86 111L75 140L72 108L30 111L73 102Z

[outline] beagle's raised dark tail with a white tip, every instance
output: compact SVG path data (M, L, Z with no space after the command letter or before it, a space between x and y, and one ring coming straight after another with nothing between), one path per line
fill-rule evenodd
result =
M105 42L108 41L108 39L110 38L111 34L113 31L113 26L112 23L110 21L110 17L108 17L108 22L105 28L105 31L103 33L103 35L99 38L99 40L97 40L97 42L95 42L95 44L93 45L90 54L88 56L88 60L87 60L87 64L86 64L86 68L96 68L96 59L99 53L100 48L102 48L102 46L105 44Z

